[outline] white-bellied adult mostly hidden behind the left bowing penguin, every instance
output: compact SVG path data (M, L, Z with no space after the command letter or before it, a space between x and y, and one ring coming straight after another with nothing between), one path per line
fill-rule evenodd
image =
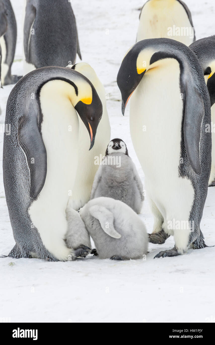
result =
M88 138L86 136L85 125L79 119L79 141L82 145L78 145L77 175L68 203L68 208L70 207L78 211L90 199L94 177L99 168L97 158L100 155L105 155L108 142L110 141L110 122L106 106L105 88L97 77L95 70L85 62L76 63L76 65L67 67L78 71L91 81L98 93L103 109L102 118L96 132L96 142L90 152L88 151ZM88 171L87 174L86 171Z

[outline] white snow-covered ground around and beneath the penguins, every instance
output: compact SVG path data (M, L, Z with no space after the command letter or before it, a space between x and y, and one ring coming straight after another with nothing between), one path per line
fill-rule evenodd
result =
M22 0L12 0L18 42L12 72L22 74ZM196 38L214 34L214 0L186 0ZM82 61L96 71L106 92L111 137L122 138L144 183L129 133L129 106L121 115L116 76L128 48L134 44L141 0L72 0ZM77 62L78 62L77 58ZM4 122L12 86L0 90ZM0 254L14 245L2 177L3 134L0 133ZM159 167L158 167L159 169ZM153 218L147 203L140 216L150 233ZM201 228L208 245L215 244L215 187L208 189ZM117 262L95 256L75 262L0 259L0 318L11 322L207 322L215 317L215 248L188 250L187 255L153 259L172 248L149 245L147 259ZM213 316L213 317L211 317ZM1 319L0 319L1 320ZM215 319L214 319L215 320Z

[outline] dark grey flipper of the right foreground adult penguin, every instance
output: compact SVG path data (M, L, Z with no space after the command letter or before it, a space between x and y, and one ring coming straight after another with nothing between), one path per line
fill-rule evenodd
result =
M201 174L200 140L202 121L205 114L202 96L192 84L192 79L185 81L186 106L184 115L184 142L190 165L196 174Z

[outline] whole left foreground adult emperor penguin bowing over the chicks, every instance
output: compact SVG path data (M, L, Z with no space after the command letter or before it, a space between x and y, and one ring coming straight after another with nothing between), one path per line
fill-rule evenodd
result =
M3 178L16 241L11 257L53 261L75 257L64 239L65 211L82 145L76 111L89 133L91 149L102 103L79 72L39 68L20 79L10 93L5 121L11 124L11 135L4 135ZM85 173L90 174L90 168Z

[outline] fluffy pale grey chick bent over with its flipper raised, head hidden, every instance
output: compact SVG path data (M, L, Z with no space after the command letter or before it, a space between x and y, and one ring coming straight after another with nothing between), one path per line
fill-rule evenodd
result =
M94 240L100 259L139 259L147 254L145 225L122 201L96 198L88 201L79 214Z

